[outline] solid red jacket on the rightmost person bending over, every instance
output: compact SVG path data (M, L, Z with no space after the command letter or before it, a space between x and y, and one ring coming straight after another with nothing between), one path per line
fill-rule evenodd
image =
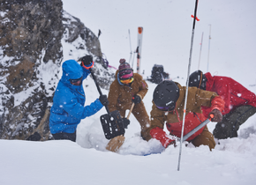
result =
M215 92L222 97L225 101L225 107L222 111L222 115L230 113L230 110L251 105L256 107L255 94L245 88L245 86L239 84L236 80L228 77L214 76L207 72L205 74L207 78L207 91ZM210 113L209 107L202 107L204 115Z

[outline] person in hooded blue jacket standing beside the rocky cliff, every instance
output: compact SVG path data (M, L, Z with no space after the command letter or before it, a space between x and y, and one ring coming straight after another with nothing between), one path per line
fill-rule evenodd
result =
M81 64L75 60L63 63L63 75L56 87L53 106L50 109L49 130L56 139L76 141L76 129L81 121L97 113L109 101L106 95L100 96L91 105L84 107L86 94L82 82L94 66L93 56L82 57Z

